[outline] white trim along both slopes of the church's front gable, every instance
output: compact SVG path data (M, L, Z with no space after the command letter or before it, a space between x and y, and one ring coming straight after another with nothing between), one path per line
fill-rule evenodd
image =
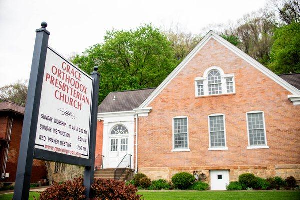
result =
M182 62L162 81L162 83L148 96L148 98L139 106L139 108L147 107L155 98L156 96L171 82L174 77L187 65L187 63L202 49L202 47L211 39L215 39L226 48L234 52L236 55L244 59L246 62L254 66L256 69L264 73L266 76L271 78L273 81L281 85L287 91L292 93L293 95L300 95L300 90L280 78L278 75L273 73L271 70L260 64L258 61L250 57L248 54L222 38L221 36L217 35L215 32L210 30L206 36L196 45L196 47L182 60ZM291 98L289 98L291 100Z

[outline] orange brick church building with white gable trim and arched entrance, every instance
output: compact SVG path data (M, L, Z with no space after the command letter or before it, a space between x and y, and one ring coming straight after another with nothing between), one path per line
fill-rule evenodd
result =
M218 190L245 172L299 181L299 89L300 74L278 76L210 31L157 88L104 99L96 165L195 172Z

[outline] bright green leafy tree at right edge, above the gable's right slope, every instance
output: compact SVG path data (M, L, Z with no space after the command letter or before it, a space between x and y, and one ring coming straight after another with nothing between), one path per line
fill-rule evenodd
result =
M277 74L300 72L300 23L291 23L275 31L268 67Z

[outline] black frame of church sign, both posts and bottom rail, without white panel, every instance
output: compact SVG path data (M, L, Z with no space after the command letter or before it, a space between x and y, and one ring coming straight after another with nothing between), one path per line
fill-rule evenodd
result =
M29 198L30 178L34 158L84 166L85 171L83 182L84 186L86 187L84 194L86 196L86 199L89 199L90 185L93 183L94 179L94 161L98 113L97 107L100 81L100 75L97 72L98 67L95 66L94 71L91 72L91 77L89 76L89 78L93 81L93 88L91 100L91 121L88 159L35 148L36 129L42 93L43 77L45 71L46 55L48 50L48 40L50 35L50 32L46 30L47 23L42 22L41 26L42 28L36 30L36 38L28 85L28 94L25 108L25 116L23 120L22 137L18 156L18 165L16 171L13 199L25 200ZM61 58L64 59L63 57ZM66 59L64 60L68 62ZM68 62L68 64L76 68L76 66L74 66L72 63Z

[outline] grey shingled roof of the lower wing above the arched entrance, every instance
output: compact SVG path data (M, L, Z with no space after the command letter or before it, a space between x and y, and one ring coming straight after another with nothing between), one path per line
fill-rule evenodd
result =
M110 92L98 107L98 113L131 111L138 108L155 88Z

